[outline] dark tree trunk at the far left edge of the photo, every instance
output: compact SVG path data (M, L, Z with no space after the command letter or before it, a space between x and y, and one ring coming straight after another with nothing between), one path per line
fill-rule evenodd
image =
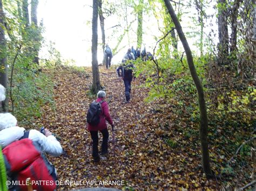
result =
M0 83L8 89L8 67L6 62L6 41L4 37L4 12L3 12L3 4L2 0L0 0ZM6 95L5 100L0 103L0 112L8 111L8 96Z

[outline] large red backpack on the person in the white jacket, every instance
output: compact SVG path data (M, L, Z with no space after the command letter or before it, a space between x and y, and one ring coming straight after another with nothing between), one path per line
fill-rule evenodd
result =
M11 186L14 186L9 188L10 190L28 190L27 178L34 182L33 189L56 189L56 177L53 175L55 168L45 158L41 147L36 142L23 136L22 139L6 146L3 149L3 155L6 172L12 180ZM43 183L46 181L48 183Z

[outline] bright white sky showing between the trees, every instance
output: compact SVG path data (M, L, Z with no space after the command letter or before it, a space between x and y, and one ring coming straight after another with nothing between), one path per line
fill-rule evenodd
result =
M41 0L38 5L38 21L43 18L45 27L44 37L46 41L53 41L56 45L56 49L60 52L64 59L75 60L77 66L91 66L91 38L92 29L92 0ZM196 10L188 10L196 11ZM185 18L185 17L184 17ZM130 18L130 21L134 18ZM162 36L157 29L157 23L154 18L144 15L143 30L146 34L143 34L143 43L146 46L147 51L153 52L153 47L156 44L154 36L159 33L159 38ZM99 20L98 20L99 24ZM120 23L120 19L116 16L108 17L105 19L105 30L111 26L121 24L125 27L125 23ZM191 25L190 20L183 20L181 25ZM137 22L132 25L134 29L133 35L130 34L131 44L136 48L136 29ZM183 27L186 32L186 27ZM113 29L106 30L106 43L109 43L110 47L116 46L117 37L111 37ZM191 29L189 29L191 30ZM210 29L208 29L210 30ZM131 37L132 36L132 37ZM188 43L193 47L193 40L188 39ZM101 32L98 26L98 43L101 43ZM122 60L127 48L129 47L127 36L123 39L122 44L119 47L125 47L112 59L113 63L118 63ZM179 45L181 47L181 45ZM197 49L197 47L193 47ZM42 52L46 52L45 49ZM102 48L98 46L98 62L102 62Z

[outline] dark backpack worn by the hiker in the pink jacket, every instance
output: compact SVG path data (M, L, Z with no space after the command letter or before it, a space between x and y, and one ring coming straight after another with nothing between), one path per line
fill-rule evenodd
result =
M102 103L104 101L93 101L87 111L86 120L90 125L96 126L99 124L99 114L102 112Z

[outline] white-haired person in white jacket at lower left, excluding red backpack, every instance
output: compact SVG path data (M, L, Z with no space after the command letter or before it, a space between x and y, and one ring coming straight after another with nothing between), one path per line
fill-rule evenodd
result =
M24 132L24 128L17 126L17 119L13 115L10 113L0 114L0 145L2 148L19 140L23 137ZM45 129L45 135L32 129L29 131L28 138L38 143L43 152L53 157L58 157L62 154L62 146L48 129Z

